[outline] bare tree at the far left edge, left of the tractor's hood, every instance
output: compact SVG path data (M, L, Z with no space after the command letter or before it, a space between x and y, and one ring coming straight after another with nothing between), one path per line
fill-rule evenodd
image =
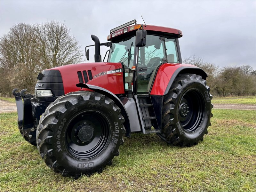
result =
M32 91L36 79L31 80L31 77L39 71L34 26L25 23L13 25L9 33L1 37L0 44L1 81L5 83L1 90L4 88L10 92L15 87L26 87ZM30 74L23 76L25 71Z

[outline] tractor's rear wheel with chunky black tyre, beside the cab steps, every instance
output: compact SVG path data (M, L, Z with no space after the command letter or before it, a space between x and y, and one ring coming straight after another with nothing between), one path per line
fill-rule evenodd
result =
M172 145L192 146L203 141L211 126L212 95L206 80L195 74L175 78L164 95L162 131L157 135Z

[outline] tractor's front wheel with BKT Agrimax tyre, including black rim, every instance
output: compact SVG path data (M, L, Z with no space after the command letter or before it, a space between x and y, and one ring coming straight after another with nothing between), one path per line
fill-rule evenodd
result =
M51 103L36 130L44 162L62 176L102 172L124 144L120 108L97 92L71 92Z

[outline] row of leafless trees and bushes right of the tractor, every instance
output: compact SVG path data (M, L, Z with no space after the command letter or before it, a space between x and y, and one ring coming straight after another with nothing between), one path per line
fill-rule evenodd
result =
M212 95L226 97L256 94L256 71L250 65L220 68L195 55L182 61L200 67L206 72L207 84Z

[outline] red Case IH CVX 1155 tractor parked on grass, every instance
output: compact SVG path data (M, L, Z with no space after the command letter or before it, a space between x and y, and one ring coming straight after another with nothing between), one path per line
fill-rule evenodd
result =
M111 165L132 132L179 146L203 141L212 95L206 73L182 64L180 37L136 20L111 29L107 43L92 35L94 63L44 70L35 95L13 90L22 136L51 169L75 178ZM103 62L100 46L110 47Z

